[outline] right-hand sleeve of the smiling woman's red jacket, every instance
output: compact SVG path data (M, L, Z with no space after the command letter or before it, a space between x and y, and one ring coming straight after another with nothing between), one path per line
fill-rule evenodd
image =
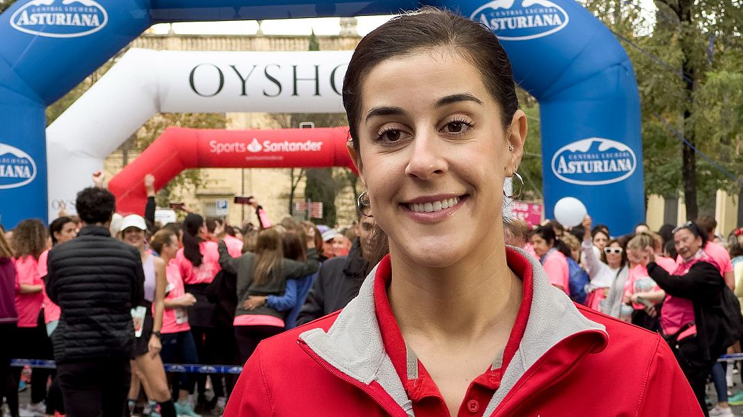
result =
M637 416L702 417L699 402L666 341L658 337Z

